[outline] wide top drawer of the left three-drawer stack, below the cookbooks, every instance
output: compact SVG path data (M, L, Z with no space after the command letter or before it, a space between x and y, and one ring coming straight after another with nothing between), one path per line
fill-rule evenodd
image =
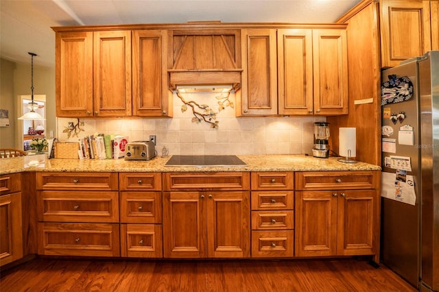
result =
M38 190L118 191L117 173L40 172Z

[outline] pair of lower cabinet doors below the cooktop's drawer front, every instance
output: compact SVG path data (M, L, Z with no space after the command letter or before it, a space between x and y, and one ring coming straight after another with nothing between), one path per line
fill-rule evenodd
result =
M250 257L248 191L165 192L165 258Z

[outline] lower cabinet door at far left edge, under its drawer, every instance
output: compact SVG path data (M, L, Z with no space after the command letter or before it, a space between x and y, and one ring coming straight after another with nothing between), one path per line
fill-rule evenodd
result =
M21 193L0 197L0 266L23 257Z

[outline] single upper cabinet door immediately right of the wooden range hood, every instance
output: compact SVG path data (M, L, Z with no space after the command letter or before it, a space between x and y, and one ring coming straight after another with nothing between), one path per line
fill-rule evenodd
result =
M242 29L241 106L237 116L277 114L276 29ZM239 105L239 100L237 102Z

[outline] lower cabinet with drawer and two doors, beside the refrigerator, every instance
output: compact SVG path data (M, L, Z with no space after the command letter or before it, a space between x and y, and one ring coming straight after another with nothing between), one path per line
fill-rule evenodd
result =
M295 173L295 255L373 255L379 263L380 171Z

